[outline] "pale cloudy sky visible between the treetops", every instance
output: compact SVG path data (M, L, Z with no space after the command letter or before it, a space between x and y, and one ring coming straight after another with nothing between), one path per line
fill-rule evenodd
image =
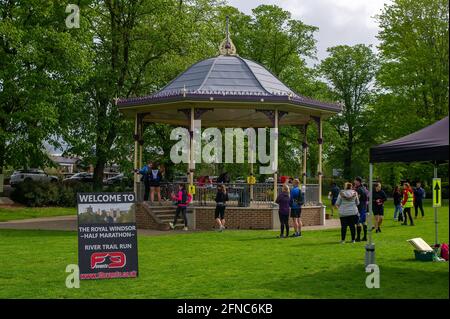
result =
M294 19L318 27L315 38L319 59L328 55L328 47L339 44L376 46L378 26L373 16L388 2L390 0L228 0L246 14L251 14L260 4L275 4L291 12Z

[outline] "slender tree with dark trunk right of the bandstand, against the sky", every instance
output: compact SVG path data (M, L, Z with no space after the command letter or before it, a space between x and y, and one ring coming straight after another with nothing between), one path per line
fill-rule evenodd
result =
M365 144L369 124L368 105L372 97L377 58L371 47L358 44L328 49L330 56L320 64L320 72L329 82L334 98L343 105L343 112L330 123L343 139L336 145L344 164L344 177L354 174L355 145ZM370 135L370 134L369 134Z

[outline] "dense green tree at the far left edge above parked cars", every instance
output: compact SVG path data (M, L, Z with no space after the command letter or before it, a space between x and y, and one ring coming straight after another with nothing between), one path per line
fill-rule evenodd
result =
M0 173L51 164L59 110L82 79L81 34L65 26L65 4L0 0Z

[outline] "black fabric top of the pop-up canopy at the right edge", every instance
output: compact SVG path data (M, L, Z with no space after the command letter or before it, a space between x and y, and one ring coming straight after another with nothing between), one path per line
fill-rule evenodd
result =
M448 161L448 116L417 132L370 148L370 162Z

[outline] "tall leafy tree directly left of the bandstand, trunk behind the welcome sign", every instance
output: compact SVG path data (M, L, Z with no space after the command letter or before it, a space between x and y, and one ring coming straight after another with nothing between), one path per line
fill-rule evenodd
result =
M90 72L66 121L64 139L69 152L93 164L96 188L102 185L105 165L126 159L129 152L124 150L132 145L131 123L114 99L150 94L168 81L168 74L175 75L174 69L179 72L192 52L207 53L202 41L195 42L195 32L214 3L105 0L82 9L89 23L85 32L94 39L85 43ZM194 43L198 50L190 51Z

